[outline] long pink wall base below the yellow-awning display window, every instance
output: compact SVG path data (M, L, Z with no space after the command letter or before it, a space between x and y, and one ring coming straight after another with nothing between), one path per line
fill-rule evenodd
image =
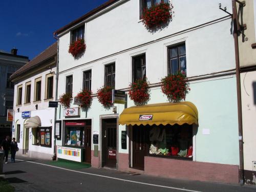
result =
M144 173L175 179L238 183L238 165L145 157Z

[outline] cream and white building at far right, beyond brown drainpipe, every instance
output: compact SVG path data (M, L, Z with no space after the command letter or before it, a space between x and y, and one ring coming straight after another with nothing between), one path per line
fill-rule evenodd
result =
M239 35L245 183L256 184L256 0L237 8L240 24L247 29ZM241 12L242 10L242 12Z

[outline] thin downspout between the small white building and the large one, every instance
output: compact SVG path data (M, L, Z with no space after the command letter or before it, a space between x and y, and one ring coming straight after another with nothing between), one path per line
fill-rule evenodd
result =
M56 82L55 82L55 101L58 100L58 78L59 78L59 38L55 36L56 33L53 33L53 37L57 39L57 58L56 58ZM54 108L55 114L54 114L54 148L53 148L53 160L55 161L57 159L56 155L56 136L55 136L55 129L56 129L56 120L57 120L57 108Z

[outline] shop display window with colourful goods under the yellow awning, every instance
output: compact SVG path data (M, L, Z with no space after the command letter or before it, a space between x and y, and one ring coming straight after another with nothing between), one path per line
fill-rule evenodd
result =
M151 155L186 159L193 157L192 125L153 125L148 135Z

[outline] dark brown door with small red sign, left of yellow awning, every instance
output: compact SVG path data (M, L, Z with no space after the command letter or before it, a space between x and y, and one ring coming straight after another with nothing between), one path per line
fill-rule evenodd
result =
M102 120L102 166L116 168L116 119Z

